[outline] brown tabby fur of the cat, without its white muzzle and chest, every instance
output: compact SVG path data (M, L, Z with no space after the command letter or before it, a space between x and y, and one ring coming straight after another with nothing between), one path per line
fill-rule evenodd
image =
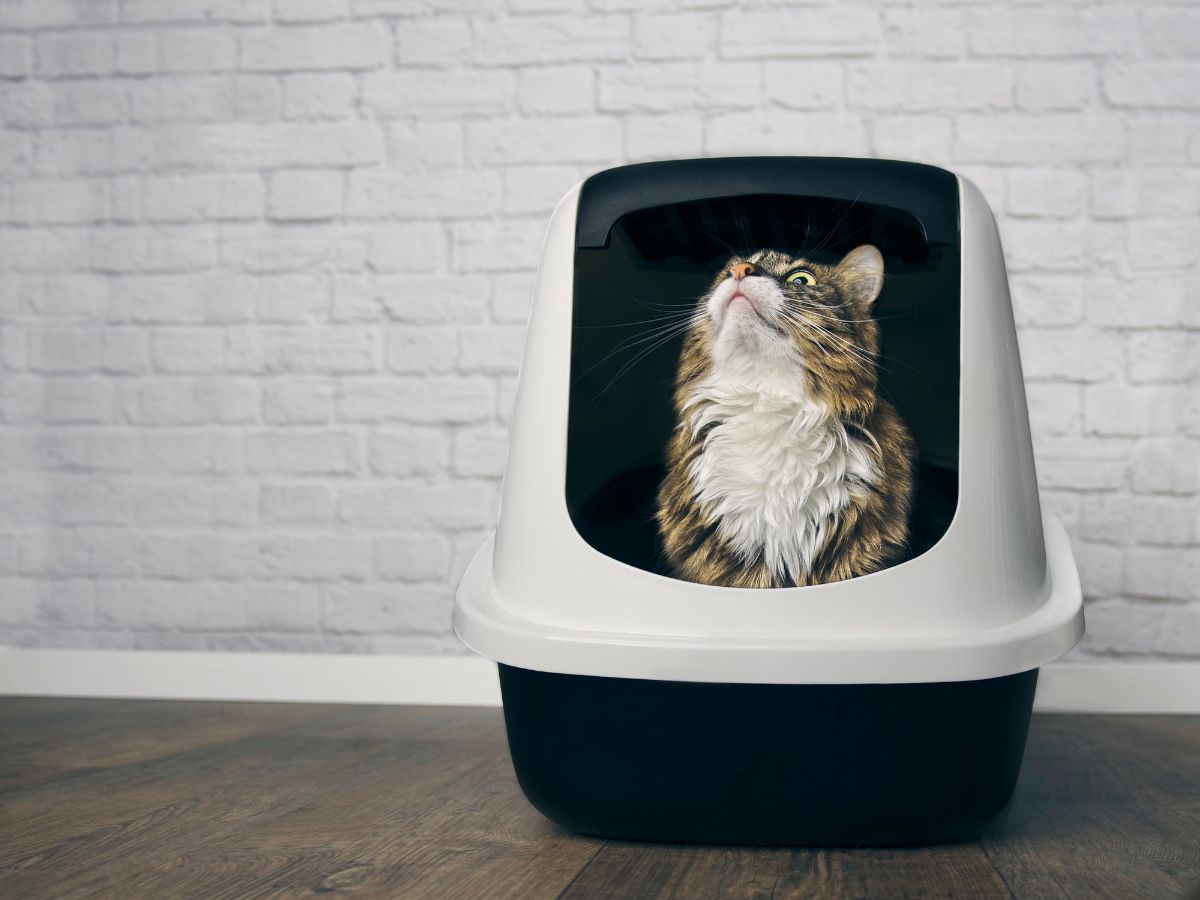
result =
M677 426L667 445L667 475L659 488L656 511L673 574L706 584L773 588L844 581L900 562L907 547L913 442L896 410L877 394L880 328L871 318L871 307L881 278L864 277L845 260L826 266L775 251L760 251L745 260L754 263L760 275L778 280L788 296L788 312L804 322L781 323L804 359L804 371L798 371L797 378L806 378L809 392L824 401L850 434L868 446L880 474L865 496L852 497L841 511L810 570L788 577L773 572L761 553L756 559L743 559L695 499L689 467L715 424L695 438L690 428ZM742 258L734 257L726 264L710 290ZM786 284L784 277L797 268L814 272L817 283L794 289ZM707 300L706 293L701 304ZM712 370L714 328L708 314L700 314L685 336L674 390L680 425L692 386Z

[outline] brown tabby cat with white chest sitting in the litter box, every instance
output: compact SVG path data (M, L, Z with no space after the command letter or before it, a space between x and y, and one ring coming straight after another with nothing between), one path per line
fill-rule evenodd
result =
M878 571L906 553L911 434L878 395L883 257L762 250L701 298L676 373L655 518L676 577L773 588Z

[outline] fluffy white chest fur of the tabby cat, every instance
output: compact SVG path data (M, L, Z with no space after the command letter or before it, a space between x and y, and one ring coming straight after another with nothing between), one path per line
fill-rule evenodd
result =
M793 578L877 473L866 448L818 402L793 392L701 385L688 426L703 433L690 476L718 532L749 563ZM707 426L707 431L706 431Z

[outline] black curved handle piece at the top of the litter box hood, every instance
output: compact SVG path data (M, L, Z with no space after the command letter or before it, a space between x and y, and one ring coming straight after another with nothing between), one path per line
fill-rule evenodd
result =
M930 244L958 242L958 180L946 169L895 160L743 156L646 162L596 173L580 193L575 244L607 246L608 232L628 212L740 194L893 206L912 214Z

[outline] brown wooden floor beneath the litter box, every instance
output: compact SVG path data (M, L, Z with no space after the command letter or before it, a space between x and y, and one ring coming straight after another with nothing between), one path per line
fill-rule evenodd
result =
M1200 898L1200 719L1036 716L982 840L580 838L496 709L0 700L0 896Z

